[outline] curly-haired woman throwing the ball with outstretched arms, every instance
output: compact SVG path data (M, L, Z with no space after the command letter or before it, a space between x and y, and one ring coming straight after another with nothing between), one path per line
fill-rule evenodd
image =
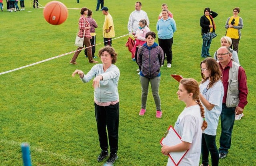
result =
M106 164L113 164L118 159L119 95L117 87L120 71L114 65L117 60L114 48L106 46L99 50L98 56L102 64L94 65L87 74L81 70L75 70L72 76L78 74L84 83L94 78L92 86L94 87L95 116L102 150L97 160L101 162L108 156L109 142L110 156Z

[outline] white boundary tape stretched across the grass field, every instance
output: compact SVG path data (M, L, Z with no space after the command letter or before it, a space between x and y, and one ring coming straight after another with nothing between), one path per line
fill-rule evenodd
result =
M129 34L125 34L125 35L123 35L123 36L119 36L119 37L114 38L114 39L112 39L112 40L116 40L116 39L118 39L118 38L122 38L122 37L128 36L128 35L129 35ZM110 40L108 40L108 41L110 41ZM108 41L106 41L106 42L108 42ZM102 43L104 43L104 42L102 42ZM99 44L102 44L102 43L99 43ZM93 46L97 46L97 45L99 45L99 44L95 44L95 45L93 45ZM81 50L84 50L84 49L86 49L86 48L90 48L90 47L93 47L93 46L89 46L89 47L85 47L85 48L82 48L82 49L79 49L79 50L67 52L67 53L65 53L65 54L61 54L61 55L58 55L58 56L54 56L54 57L52 57L52 58L48 58L48 59L45 59L45 60L41 60L41 61L36 62L36 63L32 63L32 64L28 64L28 65L26 65L26 66L22 66L22 67L19 67L19 68L15 68L15 69L12 69L12 70L8 70L8 71L6 71L6 72L1 72L0 75L6 74L6 73L10 73L10 72L14 72L14 71L16 71L16 70L20 70L20 69L23 69L23 68L27 68L27 67L29 67L29 66L34 66L34 65L36 65L36 64L40 64L40 63L43 63L43 62L47 62L47 61L49 61L49 60L53 60L53 59L56 59L56 58L60 58L60 57L62 57L62 56L65 56L65 55L68 55L68 54L72 54L72 53L74 53L74 52L81 51Z

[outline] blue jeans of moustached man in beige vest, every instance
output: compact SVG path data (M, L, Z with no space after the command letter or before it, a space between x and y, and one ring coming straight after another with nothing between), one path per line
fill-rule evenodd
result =
M222 104L222 111L220 114L221 135L220 135L220 153L228 153L231 146L232 130L235 122L236 107L228 108L226 103Z

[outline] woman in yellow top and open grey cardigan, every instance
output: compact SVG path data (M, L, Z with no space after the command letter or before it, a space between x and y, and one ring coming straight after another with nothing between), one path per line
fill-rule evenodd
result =
M244 26L243 19L238 16L239 13L240 8L234 8L233 16L228 18L225 25L225 28L227 29L226 36L232 39L232 44L230 48L233 47L233 50L235 50L236 52L238 52L238 44L241 37L241 29Z

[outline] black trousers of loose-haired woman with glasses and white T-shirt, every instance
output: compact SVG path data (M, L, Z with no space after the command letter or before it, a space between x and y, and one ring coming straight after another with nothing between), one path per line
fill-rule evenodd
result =
M212 159L212 166L219 165L219 151L216 146L216 136L202 134L202 164L209 165L209 151Z

